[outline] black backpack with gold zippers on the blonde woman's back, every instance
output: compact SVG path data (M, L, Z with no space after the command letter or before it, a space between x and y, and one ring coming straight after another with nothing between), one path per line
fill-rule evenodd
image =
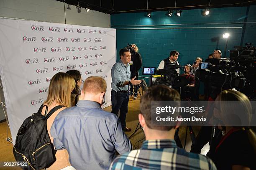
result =
M41 114L43 107L46 107L44 115ZM24 120L13 147L15 160L25 161L29 165L29 168L23 169L40 170L56 161L56 151L47 131L46 120L61 107L56 106L47 114L48 107L42 104L37 113Z

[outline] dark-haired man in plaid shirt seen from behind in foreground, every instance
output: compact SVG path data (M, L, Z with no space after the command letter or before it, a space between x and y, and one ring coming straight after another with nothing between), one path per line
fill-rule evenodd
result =
M146 140L141 149L119 155L110 170L217 170L210 158L186 152L174 141L175 126L156 126L151 122L151 101L180 101L179 93L166 85L151 87L141 98L139 122Z

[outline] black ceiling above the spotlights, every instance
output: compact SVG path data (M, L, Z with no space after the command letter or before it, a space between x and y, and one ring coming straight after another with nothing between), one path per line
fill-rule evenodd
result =
M64 0L58 0L64 2ZM65 3L77 5L78 0L65 0ZM114 5L113 5L114 2ZM148 7L147 7L148 2ZM233 6L248 6L256 4L256 0L79 0L82 8L89 6L90 9L102 13L137 13L161 10L185 10L201 8L222 8Z

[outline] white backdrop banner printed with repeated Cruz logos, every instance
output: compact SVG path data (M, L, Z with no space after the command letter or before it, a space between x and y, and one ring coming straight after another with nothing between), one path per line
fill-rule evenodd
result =
M116 30L26 20L0 19L0 74L10 131L15 144L26 117L46 100L57 72L79 70L84 81L107 81L111 105L111 67L116 62Z

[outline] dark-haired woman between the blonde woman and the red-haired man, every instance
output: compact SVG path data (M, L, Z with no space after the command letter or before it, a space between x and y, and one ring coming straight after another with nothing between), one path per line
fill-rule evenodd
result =
M78 70L69 70L66 73L72 76L76 82L76 86L71 93L71 105L75 106L81 94L80 86L82 85L82 76Z

